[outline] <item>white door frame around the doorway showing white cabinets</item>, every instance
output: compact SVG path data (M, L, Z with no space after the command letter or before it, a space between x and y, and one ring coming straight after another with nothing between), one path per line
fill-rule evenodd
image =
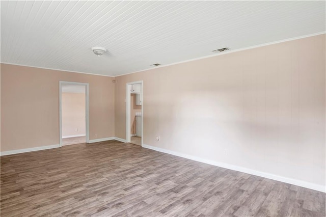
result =
M143 93L144 93L144 82L140 80L139 82L128 82L126 84L126 142L130 143L130 110L131 110L131 105L130 105L130 89L129 85L134 85L134 84L141 84L141 100L142 100L142 147L144 144L144 98L143 98Z

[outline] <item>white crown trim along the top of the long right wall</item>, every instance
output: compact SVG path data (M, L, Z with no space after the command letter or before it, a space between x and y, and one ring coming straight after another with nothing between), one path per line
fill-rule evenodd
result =
M314 33L314 34L309 34L309 35L304 35L304 36L298 36L298 37L283 39L283 40L279 40L279 41L268 42L268 43L264 43L264 44L253 45L253 46L249 46L249 47L243 47L243 48L234 49L234 50L228 50L227 52L214 53L212 55L207 55L207 56L204 56L204 57L193 58L193 59L179 61L179 62L170 63L170 64L163 64L163 65L160 65L160 66L153 66L152 68L142 69L142 70L139 70L139 71L128 72L128 73L125 73L125 74L119 74L119 75L116 75L115 77L119 77L119 76L123 76L123 75L127 75L127 74L133 74L133 73L137 73L137 72L148 71L148 70L157 69L157 68L162 68L162 67L166 67L166 66L173 66L173 65L180 64L180 63L192 62L192 61L195 61L195 60L202 60L202 59L211 58L211 57L220 56L220 55L226 55L228 53L238 52L238 51L242 51L242 50L249 50L249 49L253 49L253 48L257 48L257 47L263 47L263 46L267 46L267 45L278 44L278 43L293 41L293 40L302 39L302 38L308 38L308 37L312 37L312 36L322 35L322 34L325 34L325 33L326 32L319 32L319 33Z

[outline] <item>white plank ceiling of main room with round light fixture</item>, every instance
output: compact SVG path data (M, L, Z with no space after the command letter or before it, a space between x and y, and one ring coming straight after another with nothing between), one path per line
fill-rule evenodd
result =
M325 1L1 1L2 63L112 76L321 32Z

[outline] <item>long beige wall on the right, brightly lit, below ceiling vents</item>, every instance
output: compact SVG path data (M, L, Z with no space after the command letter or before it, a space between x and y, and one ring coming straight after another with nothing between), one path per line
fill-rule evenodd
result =
M325 184L325 35L115 79L116 137L143 80L144 144Z

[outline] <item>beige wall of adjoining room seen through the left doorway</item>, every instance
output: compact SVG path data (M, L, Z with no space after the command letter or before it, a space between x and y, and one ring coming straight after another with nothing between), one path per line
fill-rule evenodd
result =
M86 134L85 93L62 93L61 106L62 136Z

